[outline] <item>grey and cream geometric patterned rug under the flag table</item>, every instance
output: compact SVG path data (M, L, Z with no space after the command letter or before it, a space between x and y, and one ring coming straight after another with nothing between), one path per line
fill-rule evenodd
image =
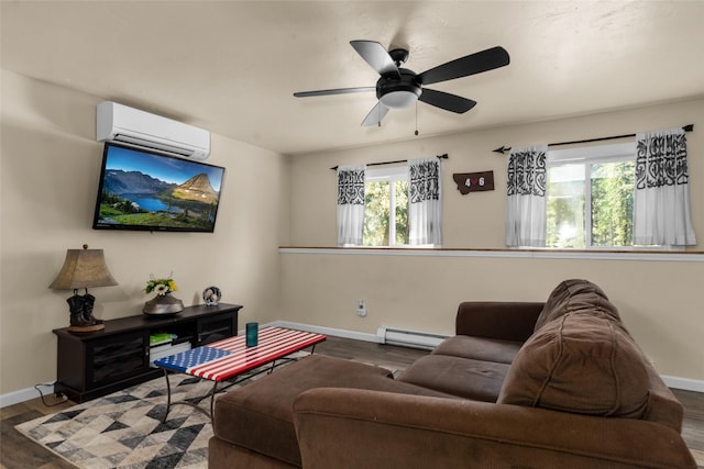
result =
M261 376L265 373L234 387ZM212 381L188 375L169 375L169 383L172 402L194 400L212 389ZM201 405L207 409L210 399ZM162 424L165 409L162 377L15 428L81 469L207 468L210 418L189 405L172 405Z

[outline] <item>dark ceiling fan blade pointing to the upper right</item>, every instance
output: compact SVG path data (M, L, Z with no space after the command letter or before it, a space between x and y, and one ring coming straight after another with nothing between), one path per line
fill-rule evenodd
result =
M418 78L422 85L431 85L493 70L508 65L509 62L506 49L497 46L439 65L418 75Z

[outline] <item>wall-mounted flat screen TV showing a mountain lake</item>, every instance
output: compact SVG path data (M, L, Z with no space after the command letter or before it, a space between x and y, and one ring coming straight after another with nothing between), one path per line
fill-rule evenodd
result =
M224 168L106 143L92 227L212 233Z

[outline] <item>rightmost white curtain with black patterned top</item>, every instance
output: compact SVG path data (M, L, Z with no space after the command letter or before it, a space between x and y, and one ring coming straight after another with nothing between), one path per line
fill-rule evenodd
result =
M634 244L696 244L682 129L636 134Z

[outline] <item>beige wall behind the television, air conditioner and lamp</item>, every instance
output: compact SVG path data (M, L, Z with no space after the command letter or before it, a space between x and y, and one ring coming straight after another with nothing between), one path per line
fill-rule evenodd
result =
M70 292L47 287L66 249L84 243L105 249L119 283L91 290L98 317L141 314L150 275L173 272L186 305L202 302L202 290L215 284L223 302L245 306L240 325L278 319L285 157L212 135L208 163L227 168L213 234L94 231L101 100L2 72L0 394L56 378L52 330L68 325Z

